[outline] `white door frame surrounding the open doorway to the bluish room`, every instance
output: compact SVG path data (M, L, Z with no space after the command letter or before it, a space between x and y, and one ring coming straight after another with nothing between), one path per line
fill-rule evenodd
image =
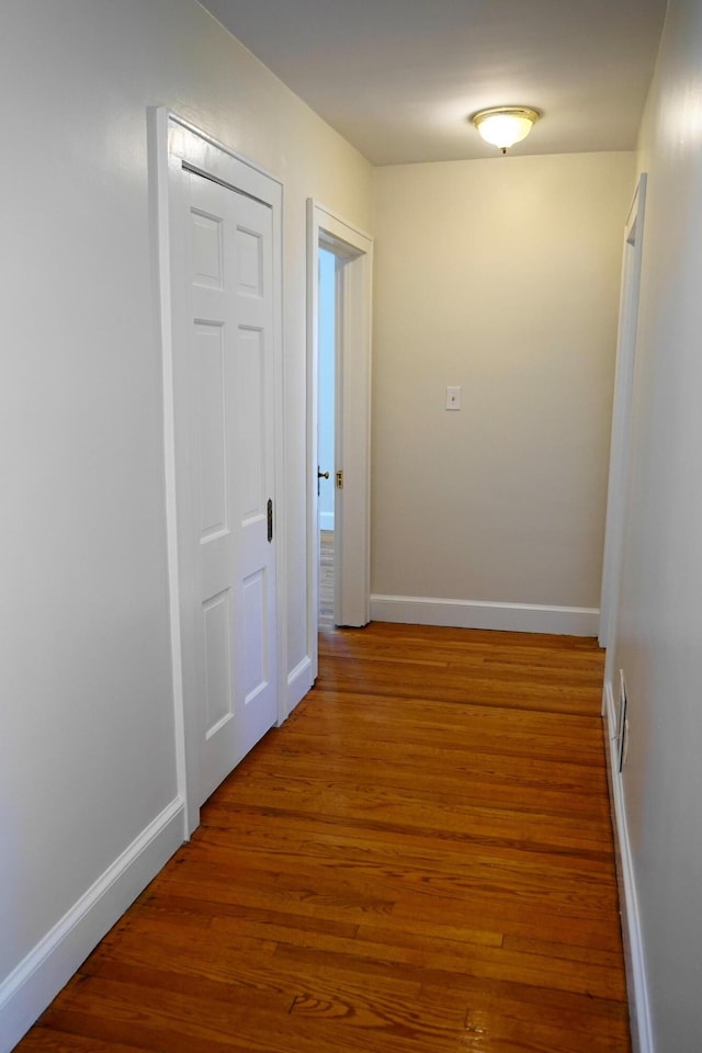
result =
M340 512L342 552L341 620L365 625L371 613L371 307L373 239L324 207L307 201L307 653L312 679L317 677L319 568L317 553L317 417L319 245L346 259L338 269L337 290L341 351L337 359L336 408L339 438L336 465L344 487L335 498ZM353 443L349 435L353 434ZM339 501L341 497L341 501ZM340 508L341 505L341 508ZM335 552L335 558L337 554Z

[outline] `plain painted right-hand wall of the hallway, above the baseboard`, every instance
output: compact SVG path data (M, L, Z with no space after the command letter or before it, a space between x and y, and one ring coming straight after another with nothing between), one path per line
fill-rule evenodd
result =
M702 4L671 0L646 110L633 450L614 668L657 1053L702 1049Z

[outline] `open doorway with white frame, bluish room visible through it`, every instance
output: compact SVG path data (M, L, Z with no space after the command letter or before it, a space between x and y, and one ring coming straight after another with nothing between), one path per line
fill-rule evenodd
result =
M370 620L373 242L313 201L307 230L307 653L314 682L319 629Z

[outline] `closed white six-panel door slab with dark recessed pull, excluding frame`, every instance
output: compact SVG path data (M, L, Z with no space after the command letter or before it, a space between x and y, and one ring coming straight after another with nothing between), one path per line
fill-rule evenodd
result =
M195 172L188 362L199 797L276 720L272 214ZM191 612L192 613L192 612Z

